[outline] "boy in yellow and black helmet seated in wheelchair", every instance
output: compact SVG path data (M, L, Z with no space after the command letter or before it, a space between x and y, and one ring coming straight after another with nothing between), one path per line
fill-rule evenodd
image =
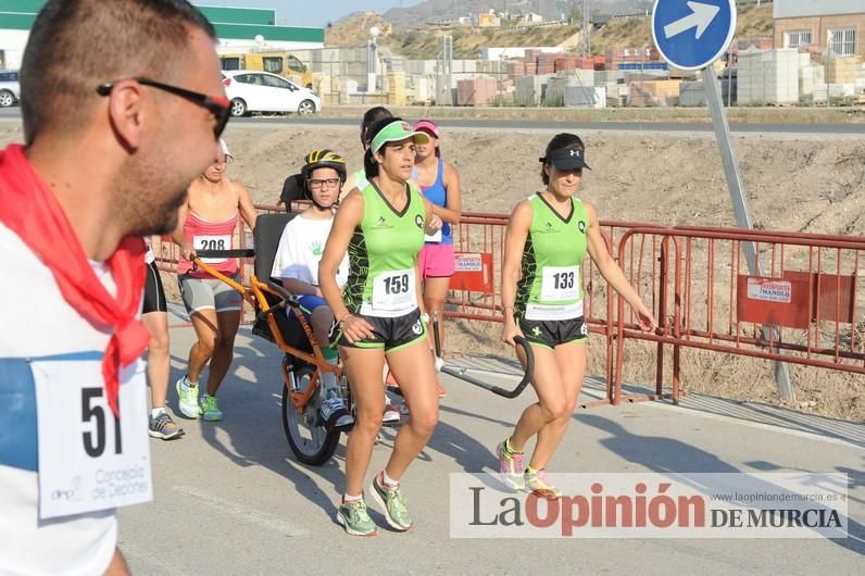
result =
M322 354L331 364L337 364L339 355L329 339L334 313L318 289L318 261L330 234L340 189L346 181L346 161L330 150L313 150L304 158L301 175L305 197L312 206L291 218L283 230L271 276L279 278L283 287L297 297L300 310L322 348ZM348 254L339 266L338 284L342 286L347 277ZM294 312L289 310L288 314ZM319 415L325 426L338 430L351 428L354 418L344 405L335 374L322 374L319 393Z

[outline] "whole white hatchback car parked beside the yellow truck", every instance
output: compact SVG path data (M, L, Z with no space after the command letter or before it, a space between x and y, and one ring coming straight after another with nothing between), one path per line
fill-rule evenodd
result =
M297 112L306 115L322 111L322 99L306 88L269 72L223 71L225 93L231 101L231 115L250 112Z

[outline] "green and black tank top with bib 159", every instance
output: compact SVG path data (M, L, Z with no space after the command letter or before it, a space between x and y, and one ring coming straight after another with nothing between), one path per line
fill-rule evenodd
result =
M424 246L426 211L421 192L405 185L409 200L397 212L376 185L362 190L363 220L349 242L347 308L366 316L397 317L417 308L415 265Z

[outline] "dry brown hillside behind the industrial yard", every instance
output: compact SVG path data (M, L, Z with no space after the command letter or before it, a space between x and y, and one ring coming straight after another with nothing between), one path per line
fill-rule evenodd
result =
M739 8L738 38L772 36L772 4ZM456 59L478 58L485 46L563 46L574 50L579 45L580 28L576 25L537 26L529 28L472 28L462 26L404 29L391 25L384 16L374 12L358 14L334 25L327 30L327 46L364 46L371 26L383 30L379 45L387 46L394 54L411 60L435 59L441 50L441 36L453 36L453 52ZM652 36L648 17L611 18L592 34L592 53L603 54L614 48L640 48L651 46Z

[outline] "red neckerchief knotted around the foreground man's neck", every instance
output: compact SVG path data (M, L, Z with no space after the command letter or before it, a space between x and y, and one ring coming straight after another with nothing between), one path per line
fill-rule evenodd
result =
M113 328L102 376L109 405L120 416L120 368L139 358L150 341L136 317L145 288L145 242L128 236L109 258L117 286L115 300L97 278L63 209L20 145L0 151L0 206L4 206L0 222L48 266L66 302L91 324Z

